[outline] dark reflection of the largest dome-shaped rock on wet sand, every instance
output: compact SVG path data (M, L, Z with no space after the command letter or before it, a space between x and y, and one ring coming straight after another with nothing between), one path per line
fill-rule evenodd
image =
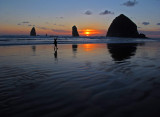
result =
M137 45L137 43L110 43L107 47L114 61L124 61L135 55Z

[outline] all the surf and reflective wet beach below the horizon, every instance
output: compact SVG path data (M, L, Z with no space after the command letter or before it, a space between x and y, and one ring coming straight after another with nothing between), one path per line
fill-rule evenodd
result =
M160 39L1 36L1 117L159 117Z

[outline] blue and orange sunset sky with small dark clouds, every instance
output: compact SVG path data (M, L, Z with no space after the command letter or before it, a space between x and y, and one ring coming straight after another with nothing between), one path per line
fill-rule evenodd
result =
M139 32L160 37L160 0L0 0L0 35L105 36L115 17L131 18Z

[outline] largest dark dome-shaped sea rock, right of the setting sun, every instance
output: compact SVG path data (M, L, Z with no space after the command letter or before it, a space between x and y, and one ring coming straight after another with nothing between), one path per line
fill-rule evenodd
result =
M111 23L107 37L128 37L128 38L146 38L144 34L139 34L137 25L127 16L121 14Z

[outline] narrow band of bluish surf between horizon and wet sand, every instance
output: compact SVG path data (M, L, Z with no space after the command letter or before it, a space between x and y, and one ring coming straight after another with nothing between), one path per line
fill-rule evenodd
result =
M106 37L58 37L58 44L87 44L87 43L143 43L159 41L159 39L140 38L106 38ZM1 36L0 46L7 45L41 45L53 44L54 37L30 37L30 36Z

